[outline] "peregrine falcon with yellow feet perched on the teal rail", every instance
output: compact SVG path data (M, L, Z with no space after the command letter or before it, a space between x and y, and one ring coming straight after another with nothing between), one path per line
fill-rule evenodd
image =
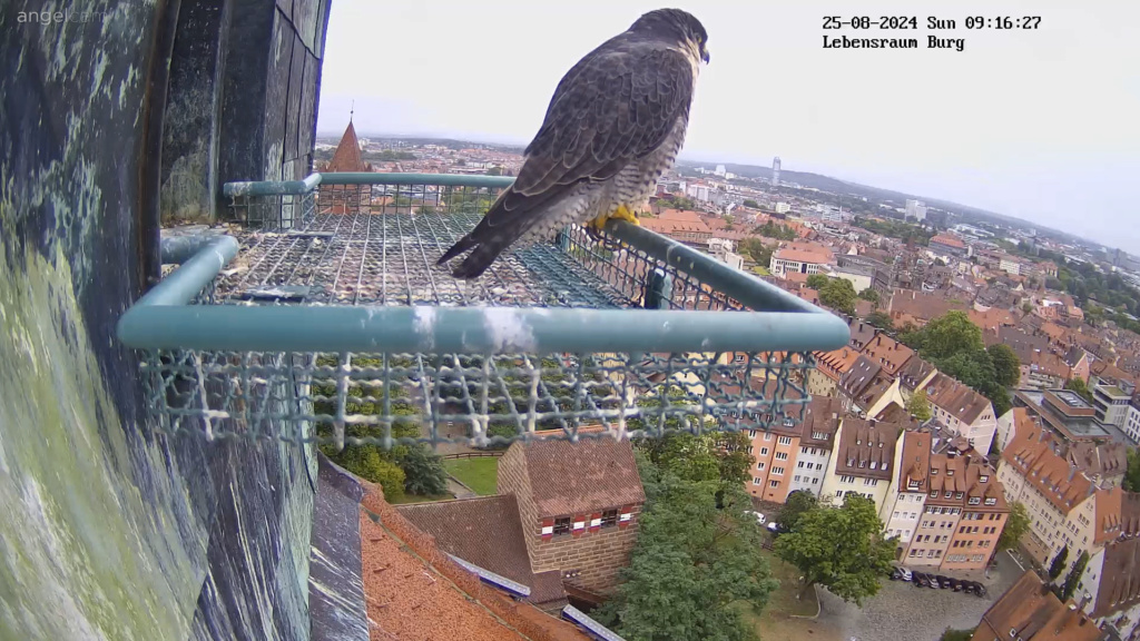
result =
M511 245L569 224L637 225L684 143L707 40L692 15L658 9L587 54L554 90L514 184L438 265L473 250L451 274L477 278Z

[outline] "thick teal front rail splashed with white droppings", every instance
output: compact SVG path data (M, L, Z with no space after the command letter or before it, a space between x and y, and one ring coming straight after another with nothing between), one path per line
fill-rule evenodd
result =
M424 354L806 351L848 340L846 323L822 313L184 306L185 282L132 307L120 340L147 349Z

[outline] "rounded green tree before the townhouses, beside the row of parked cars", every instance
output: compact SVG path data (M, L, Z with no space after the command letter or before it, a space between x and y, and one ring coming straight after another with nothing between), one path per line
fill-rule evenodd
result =
M819 584L862 605L890 570L895 539L883 536L874 502L853 493L839 509L805 513L795 532L776 539L775 553L804 573L805 592Z

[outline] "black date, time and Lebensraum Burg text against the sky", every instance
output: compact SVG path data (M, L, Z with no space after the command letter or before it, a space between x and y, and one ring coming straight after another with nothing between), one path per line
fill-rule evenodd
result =
M964 38L945 38L947 32L964 26L971 31L1033 31L1041 27L1041 16L969 16L942 18L929 16L926 21L918 16L823 16L825 31L850 30L853 32L897 31L895 38L878 38L871 33L823 34L824 49L948 49L966 50ZM907 31L925 29L925 39L910 38ZM894 35L894 34L893 34Z

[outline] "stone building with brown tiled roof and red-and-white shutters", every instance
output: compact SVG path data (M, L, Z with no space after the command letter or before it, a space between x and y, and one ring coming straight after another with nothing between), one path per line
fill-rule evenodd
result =
M397 511L441 551L529 587L527 601L547 612L613 593L645 503L628 440L514 443L498 492Z

